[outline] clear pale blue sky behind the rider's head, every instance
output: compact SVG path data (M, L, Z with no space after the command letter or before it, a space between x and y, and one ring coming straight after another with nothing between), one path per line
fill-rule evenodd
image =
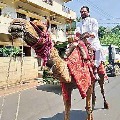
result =
M120 25L120 0L72 0L65 4L80 17L80 8L88 6L90 15L98 20L99 26Z

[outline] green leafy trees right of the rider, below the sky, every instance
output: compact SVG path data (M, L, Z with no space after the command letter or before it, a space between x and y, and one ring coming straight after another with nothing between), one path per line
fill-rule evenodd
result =
M117 25L112 29L99 27L98 35L102 44L105 45L117 45L120 47L120 26Z

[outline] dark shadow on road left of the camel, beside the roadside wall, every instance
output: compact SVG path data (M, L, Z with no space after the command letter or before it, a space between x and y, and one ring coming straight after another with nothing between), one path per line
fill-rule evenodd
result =
M60 85L40 85L40 86L37 86L36 89L46 91L46 92L53 92L58 95L62 94Z

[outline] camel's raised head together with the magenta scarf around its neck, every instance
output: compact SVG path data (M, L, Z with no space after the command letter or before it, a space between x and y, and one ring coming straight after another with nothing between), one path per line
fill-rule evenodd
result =
M36 55L43 59L45 65L52 47L52 41L47 32L48 26L48 22L45 25L37 20L29 22L23 19L14 19L9 26L9 32L13 38L22 38L27 45L32 47Z

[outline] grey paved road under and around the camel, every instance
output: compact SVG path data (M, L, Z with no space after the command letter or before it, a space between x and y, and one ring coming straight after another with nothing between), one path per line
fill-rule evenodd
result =
M103 99L96 84L97 103L94 120L120 120L120 77L105 83L109 110L103 109ZM20 97L20 99L19 99ZM0 97L0 110L3 97ZM18 101L20 104L18 104ZM18 114L17 114L18 108ZM63 120L64 105L59 86L41 85L5 97L1 120ZM72 93L71 120L85 120L85 100L78 90Z

